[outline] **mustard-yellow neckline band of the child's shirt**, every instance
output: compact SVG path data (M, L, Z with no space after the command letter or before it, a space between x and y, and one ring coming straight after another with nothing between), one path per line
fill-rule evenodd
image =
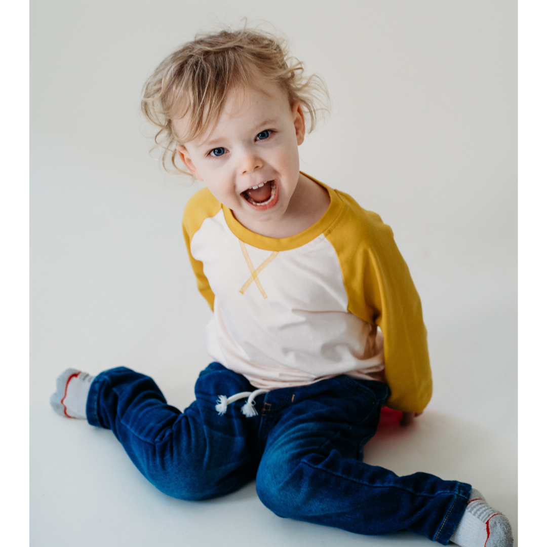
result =
M258 249L264 249L265 251L290 251L290 249L296 249L298 247L302 247L302 245L306 245L306 243L313 241L316 237L328 231L329 226L336 221L344 210L344 202L332 188L322 182L319 182L317 179L310 177L309 174L303 173L302 171L300 172L305 177L322 186L328 191L330 196L330 205L327 208L327 211L325 211L323 216L315 224L311 225L307 230L304 230L303 232L300 232L300 234L296 234L294 236L281 238L266 237L260 234L255 234L255 232L245 228L245 226L236 220L231 210L223 205L222 209L224 212L224 218L226 219L226 224L228 224L228 228L230 228L232 234L243 241L243 243L247 243L248 245L252 245Z

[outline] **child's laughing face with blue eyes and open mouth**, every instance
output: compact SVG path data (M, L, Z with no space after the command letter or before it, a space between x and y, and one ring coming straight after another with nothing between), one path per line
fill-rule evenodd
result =
M231 92L218 124L177 147L190 172L243 225L282 222L299 181L305 132L298 103L291 106L276 84L257 88ZM174 125L183 133L184 118Z

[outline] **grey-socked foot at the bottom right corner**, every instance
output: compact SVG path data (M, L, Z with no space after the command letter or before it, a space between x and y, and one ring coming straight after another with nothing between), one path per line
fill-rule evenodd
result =
M461 547L511 547L513 534L507 517L492 509L475 488L451 542Z

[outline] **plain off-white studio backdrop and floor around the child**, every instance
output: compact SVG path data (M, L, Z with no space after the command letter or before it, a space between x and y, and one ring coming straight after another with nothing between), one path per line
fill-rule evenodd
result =
M171 404L192 400L210 317L181 232L197 185L148 155L139 94L177 45L243 16L287 34L327 81L333 114L301 168L381 214L422 296L432 402L366 461L472 482L516 531L516 2L30 6L31 545L428 544L278 519L254 485L167 498L112 433L49 408L68 366L131 366Z

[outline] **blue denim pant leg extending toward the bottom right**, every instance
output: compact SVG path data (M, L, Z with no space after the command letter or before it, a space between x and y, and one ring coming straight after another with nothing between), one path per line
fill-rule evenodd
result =
M399 477L361 461L387 396L381 382L348 376L268 393L263 420L271 429L257 474L261 501L283 517L360 534L409 529L446 545L470 485L428 473Z

